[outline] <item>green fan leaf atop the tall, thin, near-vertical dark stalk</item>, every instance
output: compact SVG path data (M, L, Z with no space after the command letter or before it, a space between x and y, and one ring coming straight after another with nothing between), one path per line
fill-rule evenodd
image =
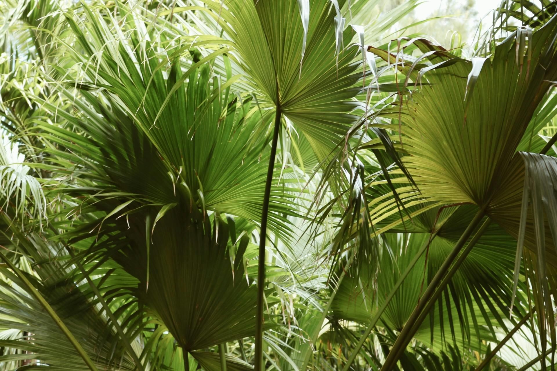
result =
M222 17L240 65L263 102L278 107L323 161L358 119L350 101L361 88L355 32L343 1L204 1ZM179 9L177 9L179 10ZM292 21L296 19L296 21Z

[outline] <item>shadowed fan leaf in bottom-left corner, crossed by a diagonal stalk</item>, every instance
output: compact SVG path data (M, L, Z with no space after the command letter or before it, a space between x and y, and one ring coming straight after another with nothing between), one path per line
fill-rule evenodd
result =
M124 349L125 340L114 333L113 327L95 307L95 302L91 303L83 288L71 279L73 273L65 267L65 262L52 258L61 246L48 243L36 233L22 233L19 220L11 219L10 214L16 213L13 209L4 209L0 219L0 243L18 253L10 253L13 255L11 260L18 262L19 270L79 339L97 369L118 365L125 370L134 370L134 360ZM4 265L1 274L0 336L5 350L0 362L6 367L13 365L13 369L27 364L27 367L52 370L90 370L45 308L23 289L26 285L21 277ZM15 332L15 336L6 338L10 332ZM139 341L131 345L140 349ZM16 349L19 352L14 352ZM42 366L35 365L37 360Z

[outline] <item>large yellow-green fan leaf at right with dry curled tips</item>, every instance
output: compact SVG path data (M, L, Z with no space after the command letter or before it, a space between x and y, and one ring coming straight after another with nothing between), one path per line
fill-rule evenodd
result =
M517 146L557 73L551 63L556 23L553 18L531 34L527 52L516 37L472 62L436 52L436 64L421 71L431 85L385 112L402 115L402 146L411 155L404 163L428 200L494 209Z

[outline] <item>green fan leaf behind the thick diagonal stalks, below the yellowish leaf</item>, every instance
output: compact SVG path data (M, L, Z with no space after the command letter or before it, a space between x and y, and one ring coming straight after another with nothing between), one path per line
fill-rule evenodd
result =
M399 276L427 245L427 253L422 253L380 316L380 323L394 330L402 329L424 287L462 234L462 224L466 224L462 221L471 220L475 213L472 205L437 209L420 214L420 221L416 218L409 222L408 227L414 228L410 235L392 231L383 235L383 255L378 264L380 279L370 273L368 266L358 276L345 278L331 306L333 318L370 323ZM427 226L419 228L419 222ZM502 318L508 314L505 303L510 303L512 298L512 280L500 273L514 268L514 249L511 236L497 225L490 226L433 307L429 321L421 325L414 338L433 347L435 352L446 342L455 346L468 343L478 350L481 342L470 344L471 339L495 339L492 323L507 327ZM522 296L518 299L523 303ZM524 315L517 308L515 311L519 316Z

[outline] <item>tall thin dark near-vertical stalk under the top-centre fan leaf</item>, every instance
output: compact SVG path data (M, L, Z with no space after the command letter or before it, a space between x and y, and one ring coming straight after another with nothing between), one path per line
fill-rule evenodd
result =
M277 152L278 132L280 131L280 120L282 112L277 107L275 114L275 130L271 142L271 156L267 169L267 180L265 181L265 195L263 196L263 207L261 209L261 234L259 238L259 260L257 265L257 314L255 326L255 358L253 360L255 371L262 370L263 364L263 306L265 305L265 242L267 240L267 219L269 214L269 199L271 197L271 182L275 170L275 157Z

